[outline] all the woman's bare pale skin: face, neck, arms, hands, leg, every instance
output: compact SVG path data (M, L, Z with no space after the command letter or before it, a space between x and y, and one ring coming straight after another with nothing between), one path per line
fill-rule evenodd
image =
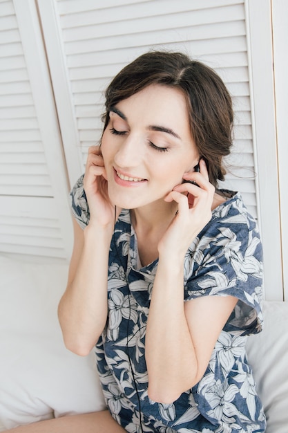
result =
M194 172L199 160L200 172ZM198 185L182 183L183 179ZM74 223L68 284L59 304L66 347L85 356L104 329L115 212L131 209L142 265L159 258L146 328L148 396L171 403L202 378L237 303L231 296L183 301L186 250L211 219L211 210L224 201L209 183L207 167L191 137L184 95L153 85L113 107L101 149L89 149L84 188L90 223L85 230ZM104 411L10 431L125 430Z

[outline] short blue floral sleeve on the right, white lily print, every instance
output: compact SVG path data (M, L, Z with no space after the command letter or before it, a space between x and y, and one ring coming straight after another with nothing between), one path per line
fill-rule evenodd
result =
M207 295L238 298L224 331L262 329L262 244L256 221L234 214L209 223L185 258L184 300Z

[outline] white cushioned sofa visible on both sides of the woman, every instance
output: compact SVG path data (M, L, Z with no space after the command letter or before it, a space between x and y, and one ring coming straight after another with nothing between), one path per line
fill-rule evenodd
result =
M0 432L105 407L94 353L65 349L57 304L68 266L0 256ZM265 330L247 347L267 433L288 432L288 302L264 302Z

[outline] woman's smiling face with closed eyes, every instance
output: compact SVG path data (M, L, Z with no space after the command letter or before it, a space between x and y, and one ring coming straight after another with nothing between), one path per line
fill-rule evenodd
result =
M182 92L154 84L112 107L102 155L112 203L162 200L199 160Z

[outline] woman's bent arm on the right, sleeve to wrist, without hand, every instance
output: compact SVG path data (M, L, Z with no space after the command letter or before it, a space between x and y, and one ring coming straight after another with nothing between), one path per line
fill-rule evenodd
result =
M167 404L202 378L237 303L232 296L184 302L182 268L159 261L146 330L148 396Z

